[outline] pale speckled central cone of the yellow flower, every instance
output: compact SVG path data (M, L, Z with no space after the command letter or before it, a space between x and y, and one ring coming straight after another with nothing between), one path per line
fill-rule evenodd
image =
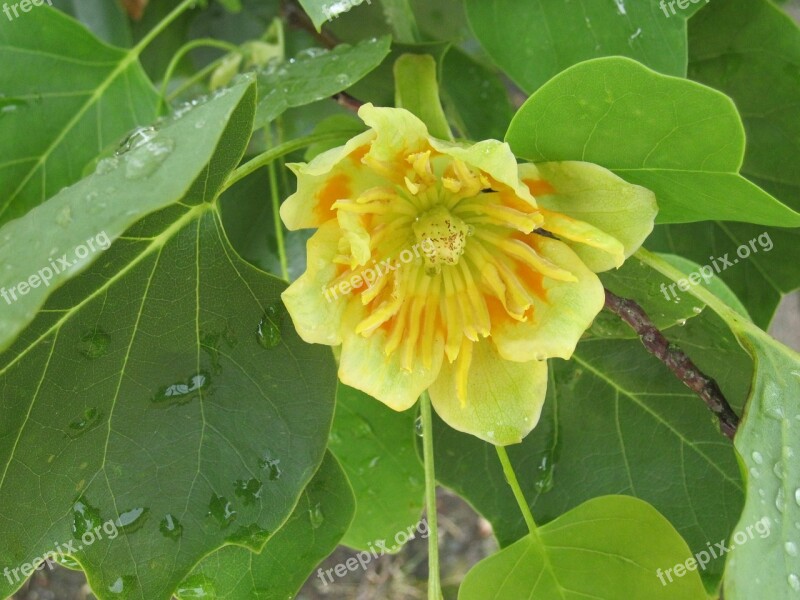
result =
M472 227L450 214L444 206L436 206L414 222L414 235L425 250L425 271L439 273L442 265L458 264L467 246Z

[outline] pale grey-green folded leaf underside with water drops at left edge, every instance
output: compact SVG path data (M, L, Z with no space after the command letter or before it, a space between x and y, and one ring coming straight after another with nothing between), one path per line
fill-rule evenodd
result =
M245 82L224 93L227 97L220 101L201 105L160 129L135 133L120 155L98 164L94 175L0 229L0 262L5 266L0 272L0 350L35 318L55 289L101 257L105 243L189 192L215 152L225 156L220 147L225 129L237 106L254 101L254 86ZM241 123L231 126L238 137L247 136L246 118L239 119ZM43 230L46 236L40 235ZM91 250L89 241L97 251L86 252ZM24 253L19 252L21 244ZM20 291L23 282L30 288L25 294Z

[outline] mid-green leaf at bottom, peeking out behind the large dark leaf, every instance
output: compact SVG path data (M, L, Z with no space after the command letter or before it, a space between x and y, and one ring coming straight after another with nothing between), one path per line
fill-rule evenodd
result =
M292 516L259 554L226 546L195 567L176 595L181 600L293 598L314 567L336 548L354 510L347 477L327 453Z

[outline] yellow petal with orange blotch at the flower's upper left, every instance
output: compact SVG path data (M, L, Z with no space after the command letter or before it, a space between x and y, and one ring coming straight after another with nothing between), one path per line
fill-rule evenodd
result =
M365 131L310 163L287 165L297 175L297 192L281 206L281 219L288 229L319 227L335 218L331 210L334 202L380 184L380 179L363 169L360 162L374 139L375 132Z

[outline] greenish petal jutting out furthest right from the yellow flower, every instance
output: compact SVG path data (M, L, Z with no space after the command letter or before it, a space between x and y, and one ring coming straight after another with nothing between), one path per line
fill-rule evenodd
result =
M653 230L658 212L653 192L598 165L576 161L528 163L519 166L519 177L540 207L583 221L621 242L620 257L618 247L609 245L607 237L587 232L586 241L578 242L567 235L569 224L562 224L565 231L558 237L595 273L618 267L620 259L633 254Z

